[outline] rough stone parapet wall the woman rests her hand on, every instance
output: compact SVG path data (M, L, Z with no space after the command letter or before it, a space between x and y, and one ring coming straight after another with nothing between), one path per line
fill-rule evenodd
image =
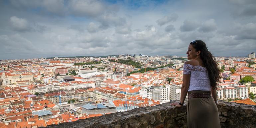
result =
M186 102L185 102L186 104ZM219 101L222 128L255 128L256 106ZM75 122L49 125L47 128L186 128L187 106L175 107L170 103L136 108L92 117Z

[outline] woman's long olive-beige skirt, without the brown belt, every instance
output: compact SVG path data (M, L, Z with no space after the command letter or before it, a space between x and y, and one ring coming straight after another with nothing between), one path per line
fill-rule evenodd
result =
M189 93L209 91L193 90ZM188 128L220 128L218 108L212 97L188 99Z

